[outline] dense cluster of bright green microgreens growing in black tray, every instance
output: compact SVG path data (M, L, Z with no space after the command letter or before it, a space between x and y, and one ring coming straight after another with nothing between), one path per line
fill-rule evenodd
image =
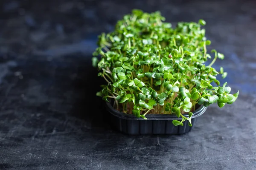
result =
M230 94L227 83L219 86L216 79L218 74L227 76L223 68L212 67L217 58L224 59L223 54L212 50L212 62L204 64L211 59L207 53L211 42L201 28L204 20L180 22L175 28L164 20L159 11L135 9L117 22L113 32L99 36L92 62L107 83L96 95L112 99L113 107L124 113L144 119L147 113L175 113L182 120L174 120L174 125L188 120L191 126L197 104L207 107L217 102L221 108L232 104L239 92Z

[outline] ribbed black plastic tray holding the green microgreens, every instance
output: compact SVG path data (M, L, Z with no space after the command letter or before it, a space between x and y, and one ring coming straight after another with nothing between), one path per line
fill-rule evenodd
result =
M200 105L193 112L192 127L190 127L188 121L183 122L183 126L173 125L172 120L181 120L176 115L147 114L147 120L145 120L137 118L133 114L116 111L109 102L106 102L106 108L111 113L111 126L122 133L130 135L187 133L195 126L198 116L202 115L207 109ZM188 117L188 114L184 114L184 116Z

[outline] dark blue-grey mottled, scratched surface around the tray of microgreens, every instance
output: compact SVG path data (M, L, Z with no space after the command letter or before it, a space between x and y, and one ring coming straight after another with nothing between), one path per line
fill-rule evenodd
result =
M233 105L211 105L182 136L127 136L108 125L91 67L96 37L132 8L173 25L207 21ZM255 170L256 2L1 0L0 169Z

